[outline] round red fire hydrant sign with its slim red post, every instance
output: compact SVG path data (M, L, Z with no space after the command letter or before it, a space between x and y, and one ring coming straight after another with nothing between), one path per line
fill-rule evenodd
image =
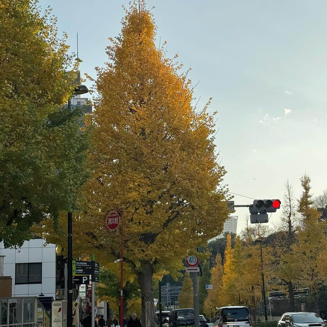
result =
M104 217L104 227L108 232L115 231L121 221L121 245L120 245L120 310L119 310L119 325L123 326L123 215L118 209L109 210Z

